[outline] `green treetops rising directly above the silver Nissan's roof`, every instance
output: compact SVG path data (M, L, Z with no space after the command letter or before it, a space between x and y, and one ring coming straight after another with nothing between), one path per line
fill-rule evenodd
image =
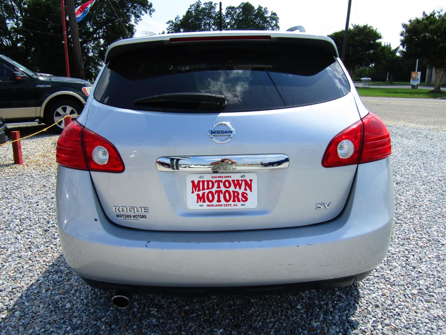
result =
M255 8L249 2L242 2L239 6L229 6L222 15L222 28L225 30L278 30L279 18L268 8ZM186 13L180 18L166 22L168 33L188 31L212 31L219 29L219 11L217 4L212 1L191 4Z

